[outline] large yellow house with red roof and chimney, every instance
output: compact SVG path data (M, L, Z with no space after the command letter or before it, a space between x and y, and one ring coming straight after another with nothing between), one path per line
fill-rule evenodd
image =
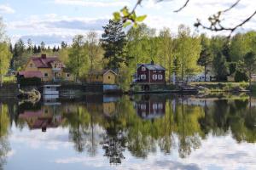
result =
M57 57L47 57L46 54L42 54L41 57L32 57L25 65L25 71L20 71L19 75L39 75L41 73L42 81L72 81L72 75L65 71L65 65L61 63L61 60ZM32 76L31 76L32 77ZM38 77L38 76L34 76Z

